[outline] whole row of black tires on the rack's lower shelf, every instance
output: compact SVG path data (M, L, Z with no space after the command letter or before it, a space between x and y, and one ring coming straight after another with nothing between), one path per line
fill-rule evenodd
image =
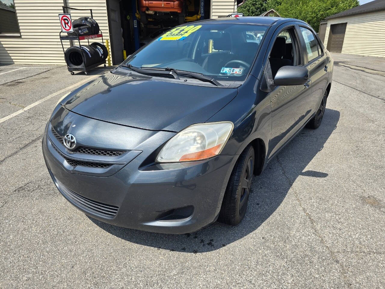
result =
M108 56L107 48L98 42L91 45L71 46L65 50L69 67L88 67L102 62Z

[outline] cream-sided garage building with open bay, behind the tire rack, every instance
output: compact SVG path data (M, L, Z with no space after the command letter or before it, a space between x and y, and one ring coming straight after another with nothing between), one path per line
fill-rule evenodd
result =
M164 0L164 5L172 7L172 2L176 0L169 1ZM234 0L178 1L186 3L186 22L216 18L219 14L228 15L236 10L237 3ZM141 22L141 16L151 17L153 14L143 14L139 3L140 0L1 0L0 64L65 64L58 16L63 13L63 6L92 9L104 40L109 40L112 64L119 64L123 61L122 50L129 55L139 48L137 38L179 24L177 21ZM72 20L90 16L90 11L65 8L65 12L71 13ZM163 15L162 12L157 14ZM70 45L68 40L63 44L64 49Z

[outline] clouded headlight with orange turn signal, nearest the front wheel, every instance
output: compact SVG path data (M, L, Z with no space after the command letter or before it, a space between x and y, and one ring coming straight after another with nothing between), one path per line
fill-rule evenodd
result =
M233 128L231 121L193 124L172 137L162 148L156 161L198 161L219 155Z

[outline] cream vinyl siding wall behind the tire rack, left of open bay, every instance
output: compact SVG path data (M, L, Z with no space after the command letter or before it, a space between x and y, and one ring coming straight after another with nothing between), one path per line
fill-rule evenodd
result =
M21 37L0 36L0 64L65 64L60 44L59 13L63 0L14 0ZM108 39L107 8L105 0L68 0L74 8L92 8L95 20ZM72 10L72 20L89 16L89 11ZM84 42L84 41L83 41ZM87 43L87 42L84 42ZM64 49L69 41L63 41Z

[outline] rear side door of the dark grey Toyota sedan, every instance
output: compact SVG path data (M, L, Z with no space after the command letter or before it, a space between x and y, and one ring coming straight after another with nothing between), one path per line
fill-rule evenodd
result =
M303 50L305 51L306 67L311 79L311 98L308 109L316 113L328 84L329 57L325 56L315 33L308 27L298 26Z

